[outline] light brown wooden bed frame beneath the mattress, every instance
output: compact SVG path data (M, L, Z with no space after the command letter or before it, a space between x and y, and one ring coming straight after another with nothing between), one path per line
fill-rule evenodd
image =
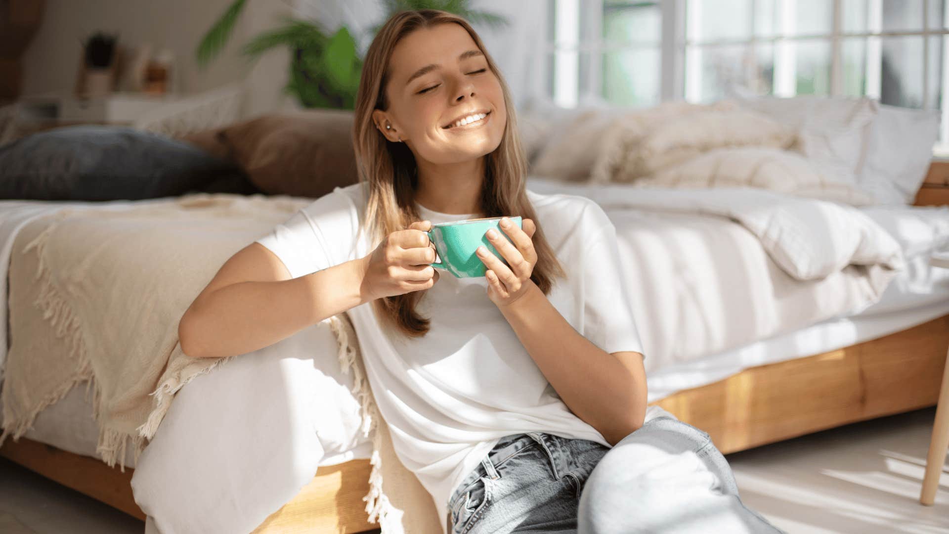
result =
M916 205L949 204L949 161L934 161ZM704 429L724 453L823 429L934 406L949 346L949 315L838 351L738 372L714 384L656 402ZM0 456L145 520L132 495L134 469L27 438L8 439ZM320 467L292 500L253 532L378 531L363 496L369 461Z

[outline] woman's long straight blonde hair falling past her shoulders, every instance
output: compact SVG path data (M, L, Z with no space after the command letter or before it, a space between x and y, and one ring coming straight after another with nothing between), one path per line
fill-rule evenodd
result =
M537 221L525 188L527 159L517 131L511 93L481 39L467 21L455 14L441 10L401 11L386 21L369 46L363 62L353 122L353 147L359 178L360 182L368 183L363 228L371 232L374 246L378 246L385 236L404 230L421 219L414 201L418 170L415 157L405 143L389 142L372 118L373 110L385 111L389 106L385 97L385 86L391 76L389 59L393 48L409 33L447 23L457 24L472 36L500 82L507 107L507 126L501 143L485 156L481 212L485 217L519 215ZM537 264L530 279L547 295L553 286L553 277L566 275L539 224L531 240L537 252ZM378 298L373 303L376 313L403 334L424 335L429 329L429 319L420 316L415 308L425 291Z

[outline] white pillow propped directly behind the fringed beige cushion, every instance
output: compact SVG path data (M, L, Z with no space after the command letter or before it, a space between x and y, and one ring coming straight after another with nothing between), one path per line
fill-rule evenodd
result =
M760 111L794 128L793 147L837 181L857 183L870 124L879 103L867 98L804 95L792 98L735 99L742 107Z

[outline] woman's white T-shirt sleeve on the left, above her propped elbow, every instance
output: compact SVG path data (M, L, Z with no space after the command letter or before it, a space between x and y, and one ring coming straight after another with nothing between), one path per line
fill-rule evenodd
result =
M358 227L355 206L338 188L255 242L279 257L290 277L303 277L350 259Z

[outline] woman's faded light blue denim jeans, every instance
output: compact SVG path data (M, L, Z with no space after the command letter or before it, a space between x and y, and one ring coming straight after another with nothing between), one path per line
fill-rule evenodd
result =
M545 432L505 436L448 509L454 534L782 532L741 503L707 433L665 416L613 448Z

